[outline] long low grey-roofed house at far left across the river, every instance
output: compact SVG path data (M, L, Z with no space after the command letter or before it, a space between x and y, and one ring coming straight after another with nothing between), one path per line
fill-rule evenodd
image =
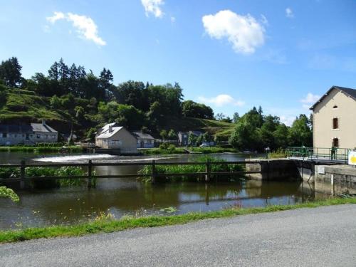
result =
M0 124L0 145L36 145L44 142L58 142L58 132L45 120L29 125Z

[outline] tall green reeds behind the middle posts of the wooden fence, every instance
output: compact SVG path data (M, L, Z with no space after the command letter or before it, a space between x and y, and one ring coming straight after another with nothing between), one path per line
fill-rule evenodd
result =
M215 159L214 157L197 157L193 159L194 162L225 162L223 159ZM204 175L197 175L199 172L206 171L205 164L192 164L192 165L159 165L155 166L157 173L157 182L204 182ZM244 166L241 164L210 164L211 172L242 172ZM145 166L140 169L139 174L151 174L152 166ZM181 174L179 176L166 176L164 174ZM231 179L238 179L236 175L217 175L211 174L210 179L219 179L219 182L230 181ZM139 177L141 182L151 182L151 177Z

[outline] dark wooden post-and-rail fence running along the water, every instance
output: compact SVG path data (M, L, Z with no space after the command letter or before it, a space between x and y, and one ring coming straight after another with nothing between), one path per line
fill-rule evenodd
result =
M253 174L259 173L261 171L244 171L244 172L211 172L211 165L213 164L259 164L261 161L253 161L253 162L245 162L234 161L234 162L210 162L209 160L206 162L156 162L152 160L152 162L92 162L91 160L88 163L50 163L50 164L38 164L38 163L27 163L25 161L21 161L20 164L0 164L0 168L7 167L18 167L20 168L20 177L19 178L3 178L0 179L1 182L25 182L31 180L38 179L88 179L88 188L92 187L93 179L103 179L103 178L128 178L128 177L151 177L152 184L155 184L156 178L159 176L165 177L174 177L174 176L192 176L192 175L201 175L205 176L205 181L209 182L211 175L241 175L241 174ZM205 165L205 172L181 172L181 173L159 173L157 172L157 165ZM117 174L117 175L93 175L93 167L97 166L151 166L152 172L150 174ZM86 167L88 169L87 175L83 176L56 176L56 177L26 177L25 169L26 167Z

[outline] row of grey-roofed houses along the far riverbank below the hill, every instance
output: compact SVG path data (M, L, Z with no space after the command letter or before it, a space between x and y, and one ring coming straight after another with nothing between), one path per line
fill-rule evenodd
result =
M95 145L102 150L120 152L120 154L135 154L137 149L153 148L160 143L169 143L181 147L191 145L189 135L199 137L204 132L188 131L178 132L177 140L155 139L152 135L142 131L129 131L117 122L108 123L95 133ZM69 135L60 133L53 127L47 125L46 120L41 123L30 123L28 125L0 125L0 145L36 145L38 143L55 143L59 139L66 142L76 141L73 132ZM214 142L203 142L202 147L214 146Z

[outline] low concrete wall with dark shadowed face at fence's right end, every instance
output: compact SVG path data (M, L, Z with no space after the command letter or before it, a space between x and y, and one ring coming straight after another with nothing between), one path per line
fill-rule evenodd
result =
M286 180L300 179L295 163L290 159L246 159L247 172L261 172L246 174L251 179L258 180Z

